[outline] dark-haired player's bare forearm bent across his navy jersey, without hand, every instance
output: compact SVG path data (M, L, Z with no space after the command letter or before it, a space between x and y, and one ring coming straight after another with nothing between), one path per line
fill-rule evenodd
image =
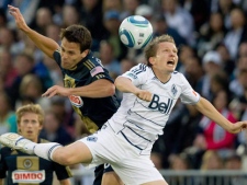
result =
M98 80L89 85L69 89L69 94L83 97L108 97L115 93L115 86L109 80Z

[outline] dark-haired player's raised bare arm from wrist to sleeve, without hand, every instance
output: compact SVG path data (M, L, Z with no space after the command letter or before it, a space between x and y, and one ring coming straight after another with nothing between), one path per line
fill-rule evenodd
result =
M26 36L29 36L30 39L34 42L37 48L45 53L49 58L53 58L54 51L59 48L59 45L55 41L42 34L38 34L29 26L26 26L22 31L25 33Z

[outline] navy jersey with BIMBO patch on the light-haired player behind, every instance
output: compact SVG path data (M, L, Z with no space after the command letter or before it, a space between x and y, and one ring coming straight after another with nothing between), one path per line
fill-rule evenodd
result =
M38 142L47 141L40 139ZM56 172L59 181L71 176L68 166L44 160L36 155L30 155L18 150L12 150L8 147L0 149L0 178L7 177L8 185L50 185L53 184L54 172Z

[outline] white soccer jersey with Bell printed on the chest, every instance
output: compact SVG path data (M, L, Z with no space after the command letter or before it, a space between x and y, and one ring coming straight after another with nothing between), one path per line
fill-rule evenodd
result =
M138 99L133 93L124 93L121 107L109 120L112 129L121 134L132 146L148 154L158 135L169 118L178 99L182 103L194 104L200 95L191 88L184 76L172 72L168 82L160 82L151 68L144 63L133 67L123 77L133 84L153 93L150 102Z

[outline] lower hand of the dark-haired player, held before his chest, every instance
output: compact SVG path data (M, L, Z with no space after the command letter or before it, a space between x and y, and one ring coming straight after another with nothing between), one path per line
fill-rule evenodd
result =
M42 97L53 97L55 95L69 96L69 89L59 85L54 85L49 88L44 94L42 94Z

